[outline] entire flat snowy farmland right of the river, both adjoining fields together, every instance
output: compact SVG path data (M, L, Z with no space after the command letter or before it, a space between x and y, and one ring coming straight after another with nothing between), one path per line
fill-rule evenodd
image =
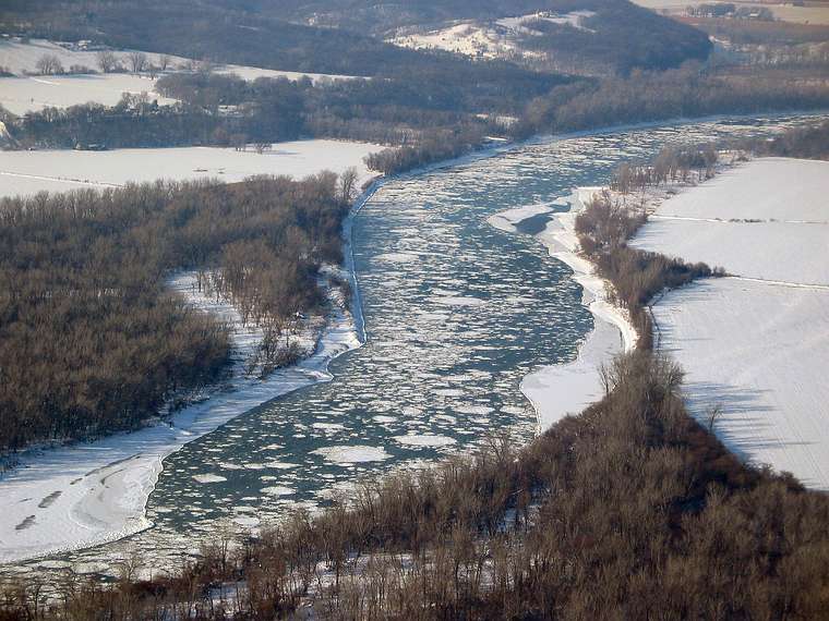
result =
M634 245L730 278L653 307L692 412L738 455L829 489L829 162L765 158L662 203ZM712 413L713 416L712 416Z

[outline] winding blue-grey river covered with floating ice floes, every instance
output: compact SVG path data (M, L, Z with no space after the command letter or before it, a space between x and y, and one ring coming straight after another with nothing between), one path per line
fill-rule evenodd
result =
M529 441L537 417L521 379L573 361L593 319L570 269L532 236L543 215L518 233L488 218L533 205L567 209L575 187L606 183L621 160L647 159L666 143L804 119L544 141L386 183L353 227L367 342L334 361L334 380L254 409L167 458L148 531L4 571L107 573L134 549L154 568L175 567L217 528L261 527L347 498L362 477L469 451L493 433Z

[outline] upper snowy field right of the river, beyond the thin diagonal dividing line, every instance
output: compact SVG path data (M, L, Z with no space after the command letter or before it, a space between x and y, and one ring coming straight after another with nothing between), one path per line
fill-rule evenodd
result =
M827 284L829 163L764 158L724 170L662 203L632 245L747 278Z

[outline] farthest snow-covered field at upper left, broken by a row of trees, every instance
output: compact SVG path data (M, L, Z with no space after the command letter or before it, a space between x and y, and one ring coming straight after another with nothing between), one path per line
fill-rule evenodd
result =
M112 53L121 64L129 66L128 57L130 51L113 51ZM148 62L159 66L160 54L145 53ZM94 71L99 71L96 51L85 51L70 45L59 45L44 39L33 39L29 42L0 39L0 66L7 68L15 74L15 77L0 77L0 106L3 106L15 114L38 111L46 107L67 108L89 101L112 106L118 104L123 93L147 93L151 99L157 99L159 104L170 104L173 101L172 99L158 96L154 92L155 80L146 74L27 75L37 73L37 61L45 54L58 57L65 71L69 71L72 65L84 65ZM185 58L168 58L170 66L167 71L181 70L192 64L192 61ZM217 73L235 73L244 80L255 80L257 77L299 80L308 76L317 82L326 78L346 80L350 77L345 75L276 71L235 64L219 65L214 68L214 71Z

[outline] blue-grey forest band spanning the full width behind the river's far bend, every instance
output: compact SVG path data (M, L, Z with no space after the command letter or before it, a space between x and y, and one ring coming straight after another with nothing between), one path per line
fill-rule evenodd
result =
M181 100L172 106L124 95L109 108L47 108L22 118L0 109L0 120L17 148L370 141L389 145L369 165L391 174L479 149L489 136L520 139L624 123L829 107L825 81L762 69L690 63L605 80L534 74L503 63L481 64L462 78L442 71L319 84L176 73L158 81L160 94Z

